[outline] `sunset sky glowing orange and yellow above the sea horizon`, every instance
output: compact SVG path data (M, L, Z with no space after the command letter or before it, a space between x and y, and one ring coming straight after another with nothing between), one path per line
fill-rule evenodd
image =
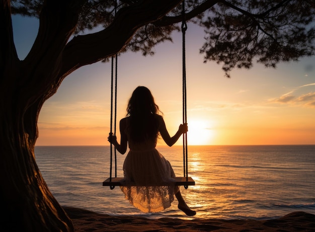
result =
M13 16L20 60L38 30L35 18ZM173 136L182 123L182 35L155 47L154 56L118 57L117 133L132 91L148 87ZM203 62L203 29L186 32L188 145L315 144L315 57L281 63L276 69L254 64L226 78L221 65ZM43 105L37 146L109 145L111 64L74 71ZM159 145L165 145L163 140ZM180 139L176 145L181 145Z

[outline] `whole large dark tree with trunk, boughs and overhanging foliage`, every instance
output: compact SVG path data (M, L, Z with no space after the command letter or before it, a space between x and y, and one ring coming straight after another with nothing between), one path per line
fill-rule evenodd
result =
M8 231L72 231L36 165L43 103L74 70L118 52L142 52L180 30L182 0L0 0L0 200ZM186 0L185 19L205 29L204 61L226 76L253 60L276 67L314 54L313 0ZM117 9L117 12L115 11ZM116 12L116 13L115 13ZM19 60L12 14L38 17L34 45ZM87 34L88 29L101 28ZM72 37L73 36L73 37Z

